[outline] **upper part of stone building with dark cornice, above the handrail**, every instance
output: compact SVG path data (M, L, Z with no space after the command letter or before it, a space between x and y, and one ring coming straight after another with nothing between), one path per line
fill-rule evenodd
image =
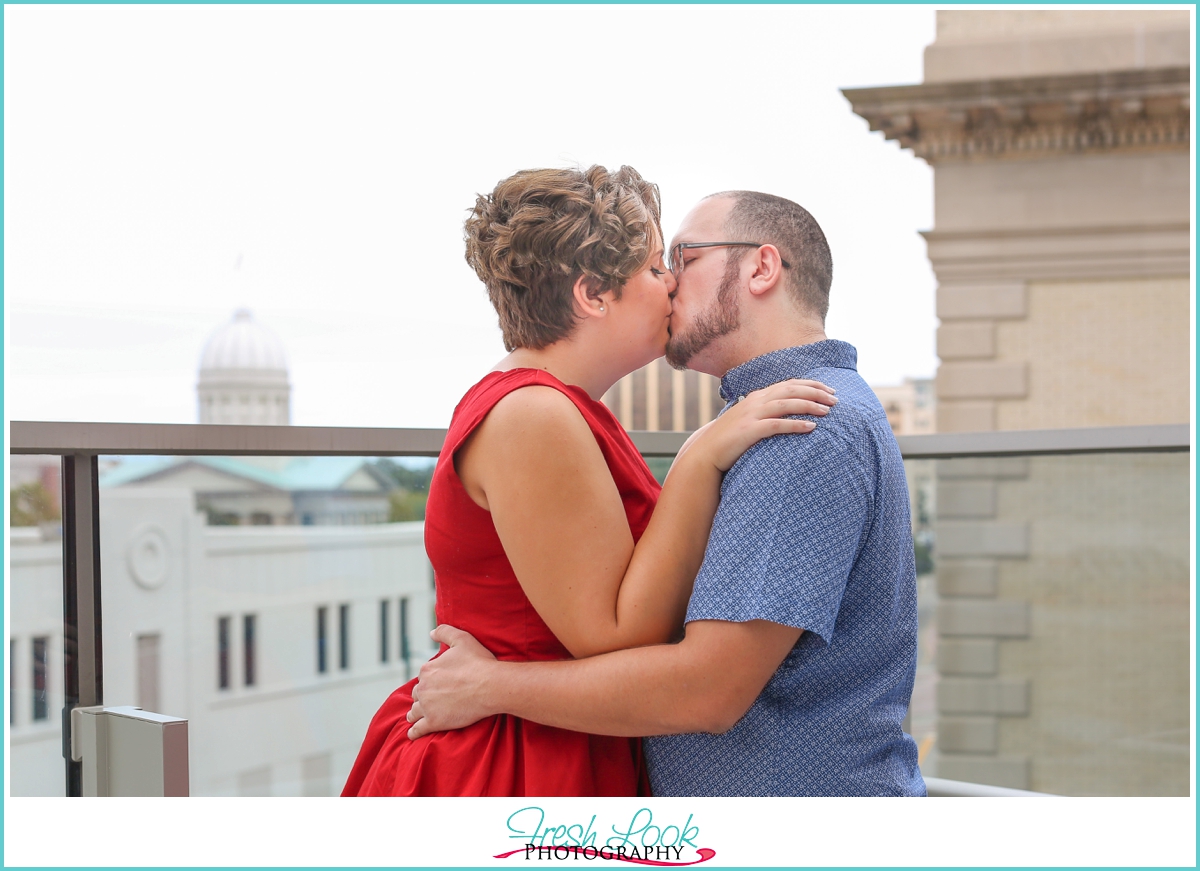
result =
M938 432L1187 422L1188 12L948 11L845 91L929 161Z

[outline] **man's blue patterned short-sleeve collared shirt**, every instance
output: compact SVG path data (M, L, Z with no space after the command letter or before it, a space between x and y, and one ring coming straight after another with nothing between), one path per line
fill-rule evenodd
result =
M721 380L730 403L811 378L838 404L811 433L763 439L728 470L686 621L804 632L732 729L646 739L656 795L925 794L901 726L917 667L908 488L857 359L823 341Z

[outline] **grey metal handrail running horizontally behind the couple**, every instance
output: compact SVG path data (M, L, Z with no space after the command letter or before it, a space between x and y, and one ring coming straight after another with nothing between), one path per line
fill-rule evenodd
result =
M14 420L10 453L161 456L436 457L445 430L349 426L240 426L224 424L78 424ZM634 431L643 455L678 452L688 432ZM911 459L1036 453L1186 451L1187 424L1013 430L900 436Z

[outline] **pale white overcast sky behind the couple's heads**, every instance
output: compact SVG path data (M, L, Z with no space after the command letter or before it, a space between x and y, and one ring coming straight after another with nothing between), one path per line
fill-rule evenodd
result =
M839 88L910 84L924 7L6 6L5 413L192 422L250 307L293 422L445 426L504 354L462 258L476 192L628 163L670 236L730 188L797 200L828 334L931 376L932 174ZM238 265L240 263L240 266Z

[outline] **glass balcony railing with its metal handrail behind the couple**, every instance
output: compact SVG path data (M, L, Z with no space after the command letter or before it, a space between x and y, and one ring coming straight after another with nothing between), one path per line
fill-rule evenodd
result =
M632 436L665 467L686 434ZM194 795L336 793L431 653L421 488L442 438L14 422L14 455L65 457L68 498L61 525L10 540L12 793L64 794L60 713L101 701L188 719ZM1187 428L900 443L908 728L936 792L1187 794Z

